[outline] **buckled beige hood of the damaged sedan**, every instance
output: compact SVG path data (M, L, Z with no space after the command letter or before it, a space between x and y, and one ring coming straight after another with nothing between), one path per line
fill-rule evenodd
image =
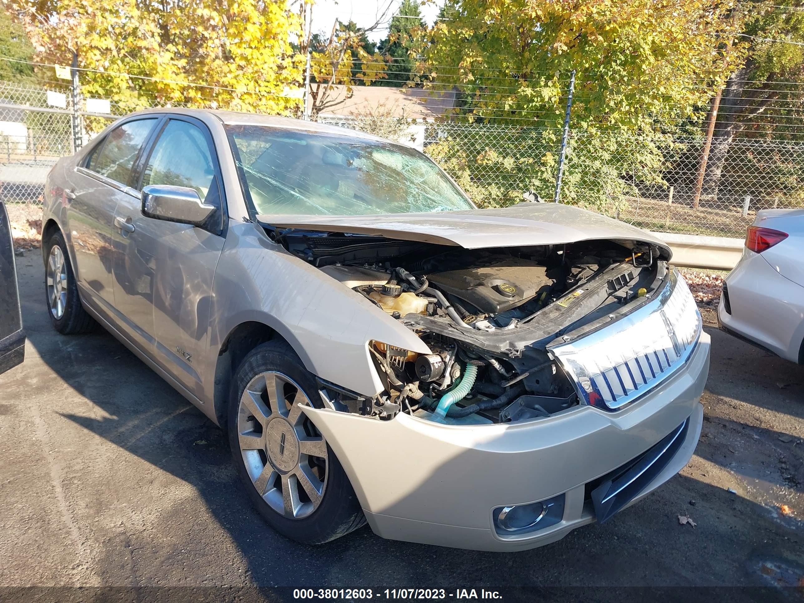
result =
M605 215L559 203L519 203L501 209L377 215L257 215L260 224L351 232L393 239L458 245L466 249L575 243L581 240L640 241L671 251L649 232Z

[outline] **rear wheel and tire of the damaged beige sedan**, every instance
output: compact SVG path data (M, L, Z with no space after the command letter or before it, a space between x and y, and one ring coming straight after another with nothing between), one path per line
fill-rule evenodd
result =
M97 322L81 305L76 276L72 272L67 244L61 232L54 232L47 240L44 257L45 307L53 328L63 335L95 330ZM57 297L54 297L54 293ZM54 299L57 301L54 302Z

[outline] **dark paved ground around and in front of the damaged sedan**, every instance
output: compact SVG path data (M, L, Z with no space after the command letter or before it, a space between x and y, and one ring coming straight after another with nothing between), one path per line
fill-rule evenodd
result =
M195 587L181 592L269 599L289 598L276 590L288 586L483 585L506 600L532 600L538 589L585 601L647 597L612 587L765 586L650 593L804 597L804 367L720 333L709 306L712 370L695 456L605 525L512 554L392 542L368 528L309 548L261 523L224 433L111 335L55 334L39 251L17 260L28 343L25 363L0 376L0 585ZM558 590L593 586L605 588ZM137 600L166 592L178 591L139 591ZM0 599L64 599L54 593L0 589Z

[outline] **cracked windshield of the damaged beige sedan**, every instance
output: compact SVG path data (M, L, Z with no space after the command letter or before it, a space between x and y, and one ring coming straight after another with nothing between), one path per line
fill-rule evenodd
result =
M226 129L258 214L474 209L429 158L406 146L265 125Z

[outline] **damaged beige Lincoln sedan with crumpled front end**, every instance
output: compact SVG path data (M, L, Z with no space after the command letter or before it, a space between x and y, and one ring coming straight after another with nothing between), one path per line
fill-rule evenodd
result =
M43 224L55 329L100 323L228 429L256 508L301 542L367 522L537 547L698 441L709 338L667 246L575 207L479 210L407 146L135 113L59 161Z

